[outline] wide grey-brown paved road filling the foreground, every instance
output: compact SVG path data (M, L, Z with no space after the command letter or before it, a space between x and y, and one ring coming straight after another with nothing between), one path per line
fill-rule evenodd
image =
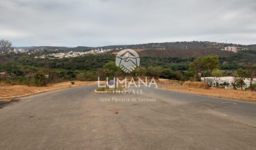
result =
M1 108L0 149L256 149L256 103L94 88L41 93Z

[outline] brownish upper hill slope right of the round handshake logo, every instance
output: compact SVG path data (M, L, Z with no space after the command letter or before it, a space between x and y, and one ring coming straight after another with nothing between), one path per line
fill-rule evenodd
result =
M165 42L165 43L149 43L138 45L125 45L126 48L131 48L139 54L139 56L150 57L200 57L209 54L216 54L219 57L230 57L237 55L230 51L223 50L227 46L235 46L256 50L256 45L238 45L224 44L218 42ZM124 47L124 46L123 46ZM114 50L109 53L116 55L120 50ZM250 56L251 57L251 56Z

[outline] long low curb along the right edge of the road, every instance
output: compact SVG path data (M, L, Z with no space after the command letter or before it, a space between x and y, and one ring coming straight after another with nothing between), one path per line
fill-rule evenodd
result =
M156 88L159 90L166 90L166 91L177 91L180 93L189 93L189 94L195 94L195 95L200 95L200 96L209 96L209 97L216 97L216 98L221 98L221 99L232 99L232 100L242 100L246 102L256 102L256 99L243 99L243 98L237 98L237 97L228 97L228 96L216 96L216 95L210 95L210 94L202 94L202 93L195 93L195 92L187 92L187 91L179 91L179 90L172 90L172 89L162 89L162 88Z

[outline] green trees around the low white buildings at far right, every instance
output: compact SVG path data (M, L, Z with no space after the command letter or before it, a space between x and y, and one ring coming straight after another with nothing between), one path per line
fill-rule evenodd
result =
M216 81L216 86L219 87L221 85L219 80L222 76L228 76L225 71L219 68L219 57L216 55L210 55L206 57L198 57L189 65L189 71L194 74L190 80L192 81L201 81L201 76L204 77L204 81L206 82L206 76L213 76ZM256 64L254 63L245 63L245 69L239 68L236 71L231 72L229 74L233 76L233 82L231 83L233 88L243 88L245 85L244 80L246 78L249 79L250 85L249 89L256 90L256 84L252 84L254 78L256 78ZM229 83L225 82L225 85ZM225 86L221 85L221 86Z

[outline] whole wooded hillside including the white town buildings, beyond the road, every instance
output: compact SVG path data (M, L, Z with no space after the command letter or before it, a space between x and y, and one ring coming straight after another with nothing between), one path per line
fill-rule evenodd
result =
M31 47L31 50L20 50L19 53L10 50L0 53L0 72L7 72L2 75L2 78L0 76L0 79L10 85L33 86L44 86L46 80L47 82L49 80L49 83L70 79L95 81L98 76L105 78L109 75L105 65L111 61L114 62L117 53L124 48L132 48L139 54L140 66L144 67L144 71L141 70L141 75L150 76L155 75L154 72L158 72L157 76L161 78L182 81L194 78L195 74L189 70L189 63L201 56L218 55L219 68L225 71L225 76L231 76L239 68L246 69L248 63L256 64L256 50L252 50L255 45L235 45L244 48L237 53L223 50L225 46L228 45L213 42L169 42L97 48ZM249 49L245 49L246 47ZM95 51L99 48L112 50L105 53ZM94 51L91 51L92 49ZM91 51L91 53L84 51ZM63 57L52 57L56 54ZM46 78L45 74L50 78L41 80L41 78ZM118 71L117 74L126 75L121 71ZM206 76L210 76L210 74L208 73Z

